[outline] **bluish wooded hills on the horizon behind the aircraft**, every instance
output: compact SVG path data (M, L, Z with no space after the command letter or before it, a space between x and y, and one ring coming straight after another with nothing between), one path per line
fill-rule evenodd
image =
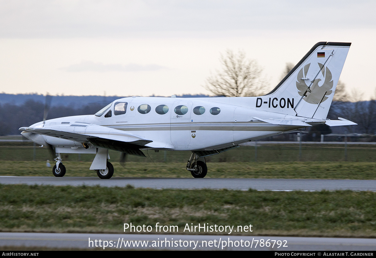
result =
M176 97L209 96L184 94ZM120 98L120 96L53 96L47 118L94 114L108 103ZM20 133L18 128L42 121L44 102L45 96L40 94L0 93L0 135L16 135ZM376 101L333 102L328 118L336 120L338 117L354 121L358 126L331 127L332 133L344 133L347 130L349 133L373 134L376 132Z

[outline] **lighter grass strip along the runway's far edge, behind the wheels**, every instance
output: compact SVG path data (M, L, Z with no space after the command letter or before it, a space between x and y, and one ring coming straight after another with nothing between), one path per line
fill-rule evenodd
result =
M65 176L97 176L91 162L66 161ZM127 162L114 177L191 178L186 163ZM53 165L53 163L51 164ZM206 178L376 179L375 162L208 162ZM45 162L1 161L0 176L53 176Z

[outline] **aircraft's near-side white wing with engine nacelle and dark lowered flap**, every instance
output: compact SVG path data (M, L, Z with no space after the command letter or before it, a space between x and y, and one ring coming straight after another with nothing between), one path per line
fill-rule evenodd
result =
M64 122L63 122L64 123ZM55 125L38 125L36 127L21 127L20 131L31 132L65 140L90 143L94 147L124 152L130 155L145 156L140 149L159 148L171 149L166 143L153 143L138 135L118 129L81 122L65 122Z

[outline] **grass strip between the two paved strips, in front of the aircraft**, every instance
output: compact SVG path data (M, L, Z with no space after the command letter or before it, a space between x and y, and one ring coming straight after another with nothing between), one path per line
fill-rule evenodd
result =
M376 237L376 193L0 185L1 231L123 233L124 223L249 226L231 235ZM191 224L192 223L192 224ZM129 231L126 231L129 233ZM150 233L150 232L149 232Z

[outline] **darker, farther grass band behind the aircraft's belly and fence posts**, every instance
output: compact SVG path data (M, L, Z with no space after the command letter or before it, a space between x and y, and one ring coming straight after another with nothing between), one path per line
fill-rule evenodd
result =
M191 156L190 151L143 151L147 158L127 156L131 162L186 162ZM301 155L300 155L301 154ZM111 162L120 160L120 152L110 150ZM92 161L94 154L62 153L65 161ZM55 157L53 157L55 158ZM0 160L5 161L41 161L52 160L47 147L35 147L32 143L0 142ZM352 161L376 162L376 145L344 144L263 144L250 147L241 146L235 150L206 157L207 162L292 162L292 161Z

